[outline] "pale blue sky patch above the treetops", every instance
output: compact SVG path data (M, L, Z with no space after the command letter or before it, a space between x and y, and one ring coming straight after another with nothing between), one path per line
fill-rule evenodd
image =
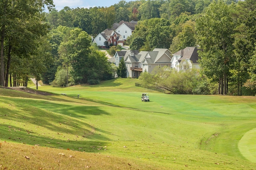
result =
M90 8L90 7L109 7L114 4L118 4L120 0L53 0L55 4L55 9L60 11L65 6L70 8ZM126 0L130 2L134 0Z

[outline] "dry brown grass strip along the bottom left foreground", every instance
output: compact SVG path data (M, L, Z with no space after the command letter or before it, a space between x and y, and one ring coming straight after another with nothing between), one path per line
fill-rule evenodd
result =
M14 143L0 143L0 169L4 170L143 170L164 169L146 162L100 153L60 150Z

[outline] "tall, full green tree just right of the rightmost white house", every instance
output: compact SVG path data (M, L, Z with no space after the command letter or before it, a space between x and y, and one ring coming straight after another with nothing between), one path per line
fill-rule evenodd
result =
M223 1L212 2L205 14L196 21L202 71L219 82L219 94L228 93L228 75L233 62L234 22L230 8Z

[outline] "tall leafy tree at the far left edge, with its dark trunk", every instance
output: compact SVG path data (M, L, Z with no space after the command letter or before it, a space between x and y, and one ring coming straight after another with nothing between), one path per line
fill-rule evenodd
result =
M47 25L43 23L42 10L44 5L47 5L48 9L50 9L53 6L53 2L52 0L4 0L0 2L0 6L2 6L2 8L0 8L0 86L4 86L5 83L4 42L9 45L8 49L12 50L14 45L11 41L12 39L20 39L19 33L20 30L22 30L24 31L24 38L28 41L27 44L23 44L22 48L26 49L26 51L33 51L30 48L36 47L36 45L33 46L35 39L39 39L40 35L45 34L48 28ZM26 56L27 55L29 55L29 53L26 52ZM10 67L7 66L7 68Z

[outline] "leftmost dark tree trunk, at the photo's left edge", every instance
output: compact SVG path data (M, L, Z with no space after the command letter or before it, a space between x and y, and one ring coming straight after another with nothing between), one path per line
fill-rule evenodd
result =
M0 86L4 86L4 37L5 25L2 25L1 32L1 51L0 51Z

